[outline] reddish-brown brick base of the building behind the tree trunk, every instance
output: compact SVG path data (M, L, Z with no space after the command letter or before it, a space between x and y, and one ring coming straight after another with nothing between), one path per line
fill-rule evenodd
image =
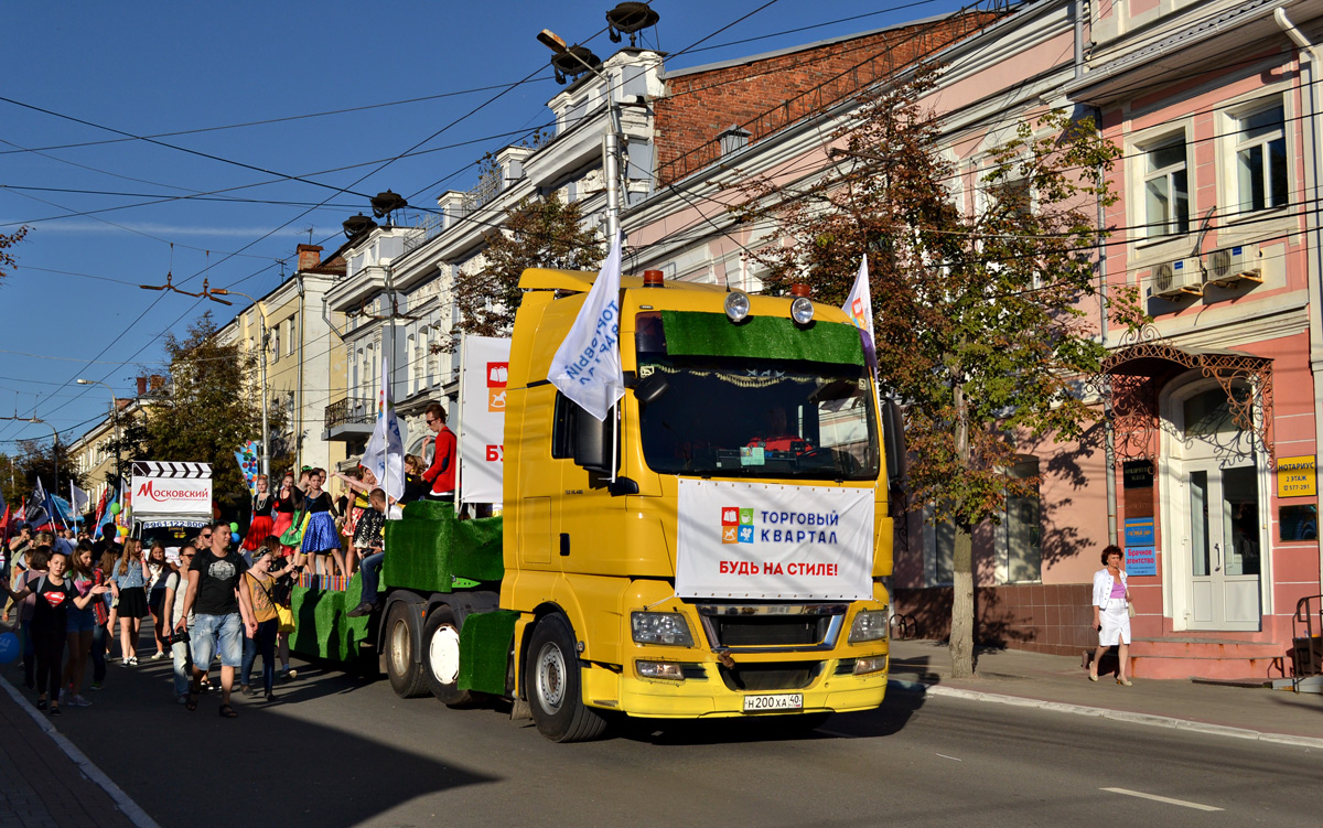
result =
M1090 627L1091 599L1089 583L979 587L974 598L974 639L990 647L1078 655L1098 644L1098 632ZM951 634L950 587L896 589L892 604L912 638L945 639Z

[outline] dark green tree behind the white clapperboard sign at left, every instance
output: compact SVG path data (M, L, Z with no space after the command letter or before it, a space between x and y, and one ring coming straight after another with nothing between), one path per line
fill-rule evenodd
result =
M126 474L128 459L210 463L216 499L234 507L247 497L234 451L262 434L262 389L258 354L220 343L216 332L206 312L183 339L167 333L168 382L120 419L119 448ZM269 405L269 411L270 433L282 434L284 406ZM287 452L273 454L273 470L288 463Z

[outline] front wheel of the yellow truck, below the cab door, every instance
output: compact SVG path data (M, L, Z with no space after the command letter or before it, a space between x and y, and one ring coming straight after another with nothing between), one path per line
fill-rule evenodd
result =
M524 676L528 706L544 737L587 742L606 730L602 713L583 704L574 631L564 615L548 615L533 628Z

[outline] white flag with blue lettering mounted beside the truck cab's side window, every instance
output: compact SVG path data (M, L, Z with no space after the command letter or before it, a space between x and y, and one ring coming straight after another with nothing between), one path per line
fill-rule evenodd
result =
M617 234L602 272L587 292L548 372L552 385L601 421L624 395L619 337L620 235Z

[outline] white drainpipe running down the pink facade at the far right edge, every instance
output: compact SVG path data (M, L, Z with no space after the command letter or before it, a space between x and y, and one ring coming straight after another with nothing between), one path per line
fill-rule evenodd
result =
M1308 91L1304 91L1303 83L1304 78L1301 78L1302 94L1301 103L1304 108L1302 112L1301 122L1308 124L1307 140L1304 142L1304 180L1306 180L1306 197L1302 193L1301 202L1308 204L1312 198L1314 209L1308 210L1306 221L1308 224L1310 237L1314 238L1312 245L1306 245L1308 255L1310 278L1307 279L1310 286L1310 377L1314 381L1314 452L1318 456L1319 448L1323 447L1323 290L1320 290L1319 280L1323 278L1323 263L1319 261L1320 251L1323 251L1323 221L1319 218L1319 198L1323 197L1319 188L1319 140L1323 136L1323 128L1319 124L1319 110L1323 106L1319 104L1319 62L1320 56L1318 46L1315 46L1310 40L1295 28L1291 19L1286 16L1285 9L1275 9L1273 12L1273 20L1281 26L1286 36L1291 38L1295 48L1301 52L1301 63L1308 65ZM1319 544L1319 586L1323 589L1323 541Z

